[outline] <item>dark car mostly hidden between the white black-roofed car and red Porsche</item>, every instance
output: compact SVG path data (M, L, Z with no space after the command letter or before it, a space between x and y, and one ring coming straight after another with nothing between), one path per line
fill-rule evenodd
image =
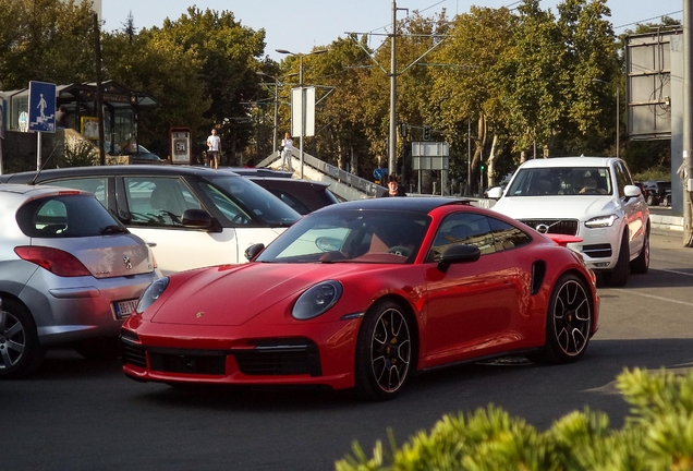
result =
M329 183L281 177L248 178L301 215L340 202L329 190Z

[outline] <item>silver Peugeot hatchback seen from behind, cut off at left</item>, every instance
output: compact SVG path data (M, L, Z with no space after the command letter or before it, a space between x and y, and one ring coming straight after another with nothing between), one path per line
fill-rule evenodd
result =
M29 374L51 346L117 353L161 276L147 244L93 195L48 185L0 185L0 378Z

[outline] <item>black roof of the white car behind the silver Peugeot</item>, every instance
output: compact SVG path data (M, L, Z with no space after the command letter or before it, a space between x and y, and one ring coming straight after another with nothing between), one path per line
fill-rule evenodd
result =
M187 166L172 166L172 165L115 165L115 166L92 166L92 167L70 167L62 169L47 169L41 170L38 181L50 178L62 177L80 177L80 176L118 176L118 174L157 174L157 176L200 176L211 177L218 176L219 172L215 169L206 167L187 167ZM233 172L223 172L224 176L240 176ZM11 173L5 176L1 181L7 182L28 182L36 176L35 171Z

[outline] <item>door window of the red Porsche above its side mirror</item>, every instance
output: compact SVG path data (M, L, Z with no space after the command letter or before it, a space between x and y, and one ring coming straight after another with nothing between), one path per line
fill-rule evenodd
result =
M482 255L496 252L489 218L475 213L458 213L446 217L436 232L427 262L439 262L446 250L458 244L477 246Z

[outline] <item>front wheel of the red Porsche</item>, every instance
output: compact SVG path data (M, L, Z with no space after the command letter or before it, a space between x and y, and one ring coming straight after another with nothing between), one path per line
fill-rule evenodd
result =
M392 399L410 376L412 353L412 328L402 306L392 301L375 303L356 341L356 395L367 400Z

